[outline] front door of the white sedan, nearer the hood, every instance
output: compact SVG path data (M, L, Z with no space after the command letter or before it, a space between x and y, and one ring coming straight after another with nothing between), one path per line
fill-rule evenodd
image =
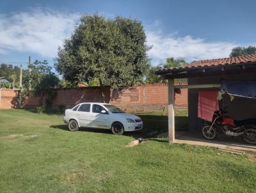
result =
M106 112L102 112L102 110ZM92 105L90 127L109 128L109 113L99 104Z

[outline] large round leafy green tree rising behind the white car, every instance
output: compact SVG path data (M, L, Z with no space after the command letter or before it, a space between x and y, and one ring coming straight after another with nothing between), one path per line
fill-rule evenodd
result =
M86 15L58 49L56 70L66 81L131 86L149 68L145 31L138 20Z

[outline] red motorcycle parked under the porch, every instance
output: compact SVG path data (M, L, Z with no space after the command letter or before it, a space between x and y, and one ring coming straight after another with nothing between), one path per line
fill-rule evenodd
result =
M214 112L213 121L205 122L202 134L206 139L215 139L218 131L222 130L228 137L243 137L244 141L256 144L256 119L234 120L225 115L225 111Z

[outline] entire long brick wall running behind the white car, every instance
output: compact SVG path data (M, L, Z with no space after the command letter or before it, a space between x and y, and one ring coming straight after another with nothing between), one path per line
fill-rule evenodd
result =
M56 98L53 107L59 105L72 107L81 102L103 102L101 89L99 87L86 88L63 88L54 89ZM117 105L125 111L166 111L168 105L168 84L139 84L131 88L114 88L110 100L110 88L104 87L106 102ZM1 109L15 108L15 97L18 91L12 89L1 89ZM42 100L45 104L47 96L26 98L24 107L35 108ZM188 89L181 89L180 94L175 94L175 107L188 107Z

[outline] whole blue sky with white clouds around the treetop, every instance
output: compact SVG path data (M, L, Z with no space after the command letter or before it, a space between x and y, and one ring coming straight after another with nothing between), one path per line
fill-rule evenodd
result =
M168 57L228 57L232 47L256 45L253 0L215 1L13 1L0 0L0 63L47 59L83 14L141 20L152 65ZM17 63L13 63L17 64ZM26 64L25 64L26 66Z

